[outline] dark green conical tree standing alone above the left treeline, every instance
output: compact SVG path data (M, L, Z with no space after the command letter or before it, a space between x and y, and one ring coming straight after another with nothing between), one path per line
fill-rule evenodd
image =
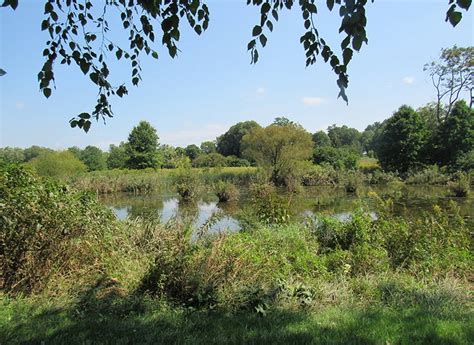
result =
M145 169L158 167L158 135L156 129L146 122L132 129L126 145L128 156L127 167L130 169Z

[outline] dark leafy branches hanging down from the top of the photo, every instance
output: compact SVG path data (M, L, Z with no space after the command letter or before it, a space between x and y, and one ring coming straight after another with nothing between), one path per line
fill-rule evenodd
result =
M448 0L449 8L446 21L456 26L462 18L462 10L468 10L471 0ZM162 42L168 54L174 58L178 54L180 23L185 18L189 26L200 35L209 25L209 8L202 0L192 1L106 1L98 10L93 10L91 0L44 0L44 20L41 29L49 33L50 39L43 50L45 62L38 74L40 90L45 97L52 93L51 84L55 85L55 67L57 62L65 65L76 65L84 75L98 88L97 103L91 113L81 113L71 119L72 127L79 127L86 132L92 124L91 119L107 119L113 116L109 98L117 95L123 97L128 93L125 83L113 85L108 61L109 55L117 60L128 60L131 65L131 83L138 85L141 76L140 54L158 58L153 49L155 36L154 25L161 26ZM336 13L341 20L339 32L343 33L338 44L342 56L338 56L333 47L320 36L315 16L318 7L315 0L247 0L248 5L257 6L260 12L259 23L252 28L252 38L247 45L251 63L259 59L259 46L265 47L269 32L279 19L281 12L299 7L305 28L299 38L306 55L306 66L316 63L318 58L329 63L337 76L339 97L347 102L348 65L354 51L360 51L363 43L368 43L366 25L367 0L327 0L326 7ZM3 7L15 10L18 0L4 0ZM129 47L125 48L113 41L120 37L112 34L109 22L115 22L111 13L120 13L121 26L128 37ZM321 28L319 28L321 29ZM3 70L0 74L5 74Z

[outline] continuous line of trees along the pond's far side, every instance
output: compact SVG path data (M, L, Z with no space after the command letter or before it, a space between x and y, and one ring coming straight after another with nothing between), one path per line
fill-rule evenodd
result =
M436 104L417 110L404 105L362 132L333 125L311 134L285 117L267 127L245 121L214 141L184 148L160 145L156 129L142 121L126 142L110 145L108 152L95 146L65 151L39 146L0 149L0 161L26 163L40 175L55 177L105 169L262 166L275 182L301 163L355 170L362 157L376 158L381 169L402 177L430 165L447 172L472 170L474 111L464 101L458 101L449 113L440 113ZM368 168L377 168L374 164Z

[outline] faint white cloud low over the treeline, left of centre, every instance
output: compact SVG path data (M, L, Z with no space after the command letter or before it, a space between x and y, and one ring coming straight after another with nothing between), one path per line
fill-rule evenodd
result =
M200 144L203 141L215 140L216 137L229 129L229 126L211 123L196 126L194 129L182 129L160 134L160 143L174 146L187 146L189 144Z

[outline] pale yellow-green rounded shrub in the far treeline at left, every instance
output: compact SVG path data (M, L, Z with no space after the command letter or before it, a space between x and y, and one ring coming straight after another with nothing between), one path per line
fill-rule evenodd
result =
M69 151L44 152L26 163L39 176L67 179L83 173L87 167Z

